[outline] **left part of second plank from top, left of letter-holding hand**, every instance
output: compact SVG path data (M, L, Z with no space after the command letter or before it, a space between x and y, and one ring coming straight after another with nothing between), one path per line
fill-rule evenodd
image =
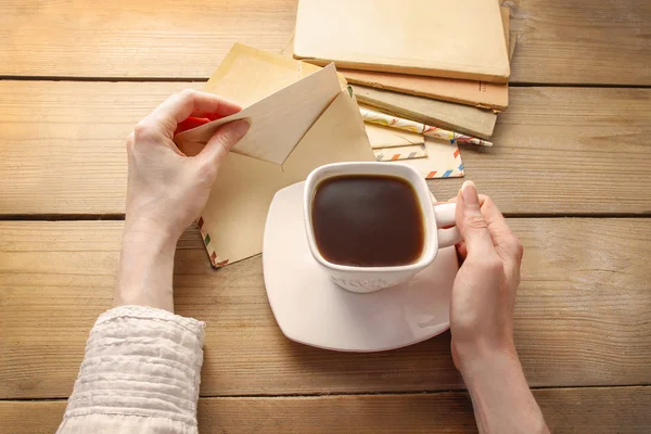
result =
M127 136L169 94L203 86L0 81L0 213L124 213Z

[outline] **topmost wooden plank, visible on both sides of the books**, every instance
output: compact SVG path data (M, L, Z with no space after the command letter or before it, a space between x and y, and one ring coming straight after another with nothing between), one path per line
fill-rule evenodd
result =
M505 5L511 82L651 85L648 0ZM235 41L280 51L296 0L5 0L0 16L0 76L207 78Z

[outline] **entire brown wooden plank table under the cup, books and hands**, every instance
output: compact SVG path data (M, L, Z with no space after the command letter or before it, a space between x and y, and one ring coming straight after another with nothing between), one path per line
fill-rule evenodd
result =
M515 339L554 433L651 430L651 3L515 0L511 104L467 176L525 246ZM0 432L51 433L111 306L124 139L234 41L279 51L295 0L0 3ZM461 180L430 182L439 197ZM196 228L176 305L207 321L202 433L474 432L449 333L380 354L292 343L261 260Z

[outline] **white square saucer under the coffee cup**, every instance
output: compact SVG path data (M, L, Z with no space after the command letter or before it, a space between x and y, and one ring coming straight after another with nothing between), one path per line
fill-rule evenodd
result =
M276 193L265 227L263 268L269 304L285 336L340 352L380 352L435 336L449 328L455 247L409 282L370 294L334 284L309 253L303 184Z

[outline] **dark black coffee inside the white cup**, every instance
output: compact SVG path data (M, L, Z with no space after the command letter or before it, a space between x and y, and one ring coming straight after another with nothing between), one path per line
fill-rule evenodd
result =
M413 187L401 178L328 178L316 188L311 220L317 247L333 264L400 266L423 253L423 215Z

